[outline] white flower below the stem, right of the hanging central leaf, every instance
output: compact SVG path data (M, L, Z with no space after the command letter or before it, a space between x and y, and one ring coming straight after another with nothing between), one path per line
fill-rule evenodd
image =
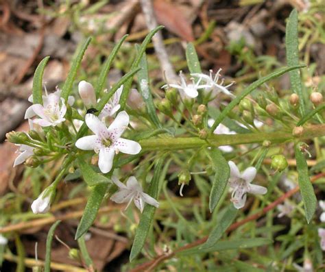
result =
M248 169L240 173L234 162L230 160L228 164L230 166L230 178L228 182L233 189L230 201L234 203L235 208L243 208L246 202L246 193L252 193L254 195L265 195L267 193L267 188L251 184L256 176L255 167L248 167Z

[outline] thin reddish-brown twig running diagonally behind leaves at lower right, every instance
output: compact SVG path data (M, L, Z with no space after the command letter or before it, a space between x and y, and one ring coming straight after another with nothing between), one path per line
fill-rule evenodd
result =
M314 175L313 177L311 177L311 182L315 182L316 180L320 179L321 177L325 177L325 173L320 173L318 175ZM263 208L263 210L261 210L260 212L256 212L256 214L252 214L249 217L246 217L245 219L243 219L239 222L233 223L232 225L230 225L230 227L228 227L227 232L236 230L241 225L244 225L245 223L248 223L250 221L258 219L259 217L262 217L263 214L265 214L266 212L269 212L269 210L276 208L276 206L278 206L278 204L282 203L283 201L285 201L285 199L287 199L287 198L291 197L292 195L294 195L295 193L297 193L298 190L299 190L299 186L297 186L296 188L293 188L292 190L289 190L287 193L285 193L284 195L282 195L278 199L276 199L276 201L273 201L268 206ZM160 254L156 258L154 258L154 260L151 260L149 262L144 262L143 264L140 264L138 267L131 269L130 272L152 271L152 269L157 267L158 264L160 264L161 262L168 260L170 258L173 258L173 256L176 255L176 253L184 251L186 249L191 249L193 247L196 247L197 245L202 245L203 243L206 242L207 239L208 239L208 236L204 236L203 238L195 240L193 243L184 245L184 247L179 247L178 249L176 249L175 251L172 251L169 254Z

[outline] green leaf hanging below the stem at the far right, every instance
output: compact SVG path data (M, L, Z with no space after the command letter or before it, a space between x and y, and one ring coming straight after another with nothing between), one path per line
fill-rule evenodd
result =
M316 210L317 199L311 184L311 180L308 174L308 166L304 154L300 151L300 145L304 143L298 143L295 146L295 156L298 171L298 183L300 187L300 193L302 195L302 201L304 201L304 212L306 212L306 220L310 223L313 214Z

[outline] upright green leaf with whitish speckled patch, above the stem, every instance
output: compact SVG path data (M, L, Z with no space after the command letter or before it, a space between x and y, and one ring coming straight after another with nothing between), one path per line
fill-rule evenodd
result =
M139 48L138 52L140 51ZM156 125L157 128L162 128L160 121L158 119L156 113L156 107L154 106L154 101L152 99L152 92L149 87L149 74L148 74L148 66L147 66L147 56L143 53L143 56L140 60L139 66L141 70L138 72L138 82L139 82L139 90L143 97L143 101L145 101L145 107L147 108L147 113L152 123Z

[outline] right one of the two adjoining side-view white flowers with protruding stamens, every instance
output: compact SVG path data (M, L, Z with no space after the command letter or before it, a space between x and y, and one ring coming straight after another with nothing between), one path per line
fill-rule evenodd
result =
M217 71L217 73L215 74L215 77L213 77L213 75L212 75L212 73L213 73L212 70L210 70L210 76L205 75L203 73L191 73L191 76L198 77L199 80L203 79L206 82L206 85L208 85L208 87L205 89L207 92L212 91L214 95L217 95L219 92L224 92L225 95L234 97L234 95L232 95L232 93L228 90L228 88L230 86L232 86L232 84L234 84L234 82L232 82L226 86L222 86L224 84L224 79L222 79L221 82L218 83L220 72L221 72L221 69L219 69Z

